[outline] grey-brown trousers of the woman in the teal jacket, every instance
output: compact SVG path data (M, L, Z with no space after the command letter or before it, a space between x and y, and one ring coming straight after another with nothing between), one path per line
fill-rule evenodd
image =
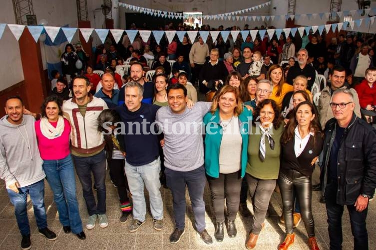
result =
M240 188L242 179L239 171L230 174L219 174L218 178L207 177L212 195L212 204L217 222L225 221L225 199L227 219L234 221L239 210Z

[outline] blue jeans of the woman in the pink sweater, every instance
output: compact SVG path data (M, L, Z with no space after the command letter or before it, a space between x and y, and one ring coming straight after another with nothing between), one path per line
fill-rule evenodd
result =
M60 223L70 226L73 234L82 232L72 157L69 154L61 160L44 160L43 170L53 192Z

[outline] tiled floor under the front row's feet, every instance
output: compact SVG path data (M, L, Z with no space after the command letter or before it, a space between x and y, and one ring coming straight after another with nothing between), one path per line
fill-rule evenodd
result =
M108 177L108 176L107 176ZM318 169L315 170L314 179L317 180ZM314 181L316 182L316 181ZM82 197L81 186L77 183L77 197L80 206L80 213L83 223L87 218L85 203ZM137 232L129 233L127 230L127 223L121 224L119 222L120 210L118 207L118 198L116 189L109 182L107 178L107 216L109 218L109 225L105 229L101 229L98 225L92 230L86 230L86 240L78 240L72 234L64 234L62 227L58 220L58 214L55 204L53 203L52 192L47 183L45 183L45 207L47 210L48 226L56 234L57 240L50 242L37 232L35 219L33 215L33 208L31 202L28 204L28 215L30 225L32 228L32 247L33 249L56 249L56 250L76 250L76 249L96 249L96 250L118 250L118 249L245 249L245 241L248 232L251 228L251 218L243 218L238 215L236 220L238 235L236 238L230 239L225 232L225 239L222 243L217 243L214 240L214 219L213 211L210 202L210 192L208 186L205 188L205 204L206 204L206 228L209 234L213 237L214 243L211 246L205 245L199 236L195 233L192 224L193 214L190 206L186 212L186 230L185 235L182 236L178 244L170 244L169 236L174 229L172 196L168 189L161 188L161 193L164 201L164 228L157 232L152 227L152 220L150 213L147 213L147 222ZM147 193L146 193L147 196ZM325 205L320 204L319 192L313 194L313 215L316 224L316 235L321 249L328 248L328 229L326 222ZM188 196L187 203L190 204ZM375 246L376 239L376 202L370 203L368 214L367 228L369 230L370 246ZM274 193L271 200L270 218L266 220L266 228L261 232L256 249L272 250L277 249L278 245L284 238L284 226L280 225L279 215L281 215L281 198L280 195ZM252 211L252 205L249 203L249 208ZM148 208L148 211L150 209ZM346 211L346 209L345 209ZM351 235L351 228L349 223L348 213L345 212L343 217L343 232L345 250L353 249L353 238ZM302 222L296 230L295 244L290 248L291 250L308 249L307 235ZM13 250L19 249L20 234L15 222L13 207L7 197L3 182L0 184L0 249ZM372 247L370 248L372 249Z

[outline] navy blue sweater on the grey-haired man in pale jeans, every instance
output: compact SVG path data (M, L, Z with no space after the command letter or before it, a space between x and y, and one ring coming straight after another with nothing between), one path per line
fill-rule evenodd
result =
M145 103L141 103L141 107L135 112L130 112L124 104L115 108L124 123L122 133L125 132L123 136L126 161L132 166L142 166L159 157L158 136L150 132L153 131L150 129L151 124L154 123L159 108L159 106ZM141 124L142 122L144 124ZM132 129L129 131L131 123ZM154 131L158 131L157 128L154 127Z

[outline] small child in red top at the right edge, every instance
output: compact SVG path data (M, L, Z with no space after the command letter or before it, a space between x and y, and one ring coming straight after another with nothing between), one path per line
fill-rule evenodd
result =
M368 68L365 78L355 86L355 90L359 97L361 114L368 123L372 124L376 117L376 67Z

